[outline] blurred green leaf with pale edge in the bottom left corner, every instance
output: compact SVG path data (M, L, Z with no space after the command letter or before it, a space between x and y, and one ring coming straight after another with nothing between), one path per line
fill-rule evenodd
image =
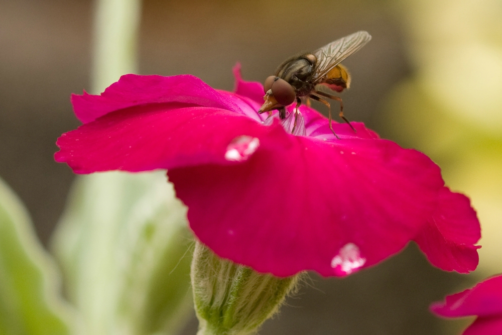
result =
M0 334L68 334L59 277L27 210L0 179Z

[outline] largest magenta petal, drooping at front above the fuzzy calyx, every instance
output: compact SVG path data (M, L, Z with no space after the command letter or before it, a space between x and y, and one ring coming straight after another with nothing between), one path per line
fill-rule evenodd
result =
M397 253L437 207L439 168L417 151L282 128L260 140L242 164L168 171L200 241L257 271L346 275Z

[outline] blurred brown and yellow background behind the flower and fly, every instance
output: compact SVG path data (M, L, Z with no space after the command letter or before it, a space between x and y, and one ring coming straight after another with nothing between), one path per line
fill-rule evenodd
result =
M91 90L91 0L0 0L0 176L47 246L74 178L53 160L76 128L71 93ZM231 68L261 81L287 57L358 30L373 39L346 65L345 115L425 152L466 193L483 238L465 276L431 267L415 246L346 279L312 274L261 333L455 334L428 305L502 272L502 2L145 0L139 73L190 73L231 90ZM118 79L118 78L116 78ZM315 105L322 113L323 106ZM195 316L184 334L196 333Z

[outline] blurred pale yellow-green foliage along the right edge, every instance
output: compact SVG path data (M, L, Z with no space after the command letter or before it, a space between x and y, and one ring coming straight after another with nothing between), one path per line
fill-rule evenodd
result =
M467 194L482 238L480 277L502 272L502 3L394 2L413 73L383 104L383 137L431 156Z

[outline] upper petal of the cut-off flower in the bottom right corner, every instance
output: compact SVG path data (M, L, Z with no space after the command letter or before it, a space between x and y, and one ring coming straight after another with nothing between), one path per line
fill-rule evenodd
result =
M502 318L502 275L480 282L471 289L449 295L445 302L432 304L431 310L446 317L499 315Z

